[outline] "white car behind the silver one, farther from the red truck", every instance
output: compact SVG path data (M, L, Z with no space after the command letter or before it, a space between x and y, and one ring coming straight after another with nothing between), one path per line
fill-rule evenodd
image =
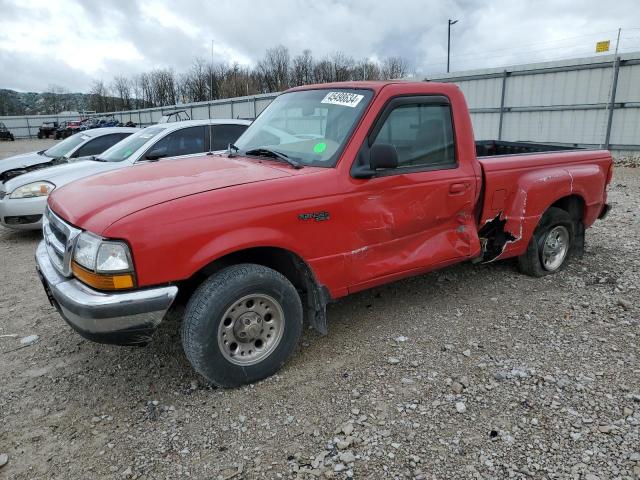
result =
M33 170L67 163L70 159L97 155L137 131L137 128L125 127L88 130L72 135L47 150L5 158L0 160L0 185Z

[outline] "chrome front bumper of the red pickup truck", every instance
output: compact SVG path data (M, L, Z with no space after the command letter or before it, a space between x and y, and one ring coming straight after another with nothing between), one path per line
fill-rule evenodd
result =
M107 293L89 288L55 269L44 241L36 251L36 267L51 303L83 337L99 343L147 343L178 294L178 287Z

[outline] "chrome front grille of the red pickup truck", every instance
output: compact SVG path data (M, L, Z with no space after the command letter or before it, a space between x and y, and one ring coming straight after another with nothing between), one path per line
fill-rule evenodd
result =
M71 256L80 230L69 225L49 207L42 218L42 235L51 263L65 277L71 276Z

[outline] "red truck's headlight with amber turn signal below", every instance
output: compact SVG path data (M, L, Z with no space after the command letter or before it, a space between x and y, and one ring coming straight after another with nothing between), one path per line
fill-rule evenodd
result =
M74 275L99 290L133 288L135 276L129 246L82 232L76 240L71 269Z

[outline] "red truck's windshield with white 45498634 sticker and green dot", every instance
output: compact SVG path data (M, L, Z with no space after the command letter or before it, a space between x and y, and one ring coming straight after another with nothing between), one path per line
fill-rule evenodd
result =
M266 149L301 165L333 167L372 96L371 90L346 88L285 93L235 145L240 153Z

